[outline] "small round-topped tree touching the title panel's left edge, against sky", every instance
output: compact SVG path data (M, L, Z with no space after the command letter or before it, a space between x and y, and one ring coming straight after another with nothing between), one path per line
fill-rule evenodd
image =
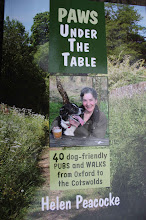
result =
M36 14L31 27L31 44L36 47L49 41L49 12Z

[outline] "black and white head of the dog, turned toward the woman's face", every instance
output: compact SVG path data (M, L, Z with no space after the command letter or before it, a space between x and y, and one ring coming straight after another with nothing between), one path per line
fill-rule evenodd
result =
M67 103L60 109L60 116L64 121L67 121L72 115L81 115L82 113L83 109L74 103Z

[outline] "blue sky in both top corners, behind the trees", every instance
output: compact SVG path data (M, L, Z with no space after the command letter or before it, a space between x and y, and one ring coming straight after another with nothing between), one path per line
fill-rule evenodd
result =
M144 17L139 25L146 27L146 6L135 6L135 9ZM50 0L5 0L5 18L9 16L10 20L20 21L30 34L33 18L37 13L45 11L50 11Z

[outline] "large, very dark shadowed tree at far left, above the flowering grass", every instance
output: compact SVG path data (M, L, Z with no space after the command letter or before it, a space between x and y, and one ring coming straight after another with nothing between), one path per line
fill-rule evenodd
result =
M0 101L48 113L45 80L31 52L25 27L7 17L4 22Z

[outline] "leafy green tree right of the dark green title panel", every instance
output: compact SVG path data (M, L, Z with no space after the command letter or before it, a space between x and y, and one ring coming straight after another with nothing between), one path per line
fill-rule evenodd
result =
M137 10L129 5L106 4L105 12L108 55L142 58L146 52L143 49L145 40L139 30L144 28L137 25L141 20Z

